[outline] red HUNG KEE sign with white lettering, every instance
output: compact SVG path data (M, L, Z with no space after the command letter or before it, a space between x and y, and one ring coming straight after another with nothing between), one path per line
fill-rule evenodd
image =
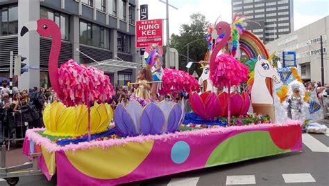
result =
M162 19L136 21L137 48L145 48L151 44L162 46Z

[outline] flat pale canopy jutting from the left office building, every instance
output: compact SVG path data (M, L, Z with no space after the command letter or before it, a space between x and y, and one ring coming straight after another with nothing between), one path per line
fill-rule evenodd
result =
M116 73L117 71L123 71L128 68L137 68L141 64L133 63L133 62L125 62L121 60L115 60L115 59L108 59L101 62L93 62L90 64L86 64L86 66L92 66L95 68L98 68L101 71L104 71L106 73Z

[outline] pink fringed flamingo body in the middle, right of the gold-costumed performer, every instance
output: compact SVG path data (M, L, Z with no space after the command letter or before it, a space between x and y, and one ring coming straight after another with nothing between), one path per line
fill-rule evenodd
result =
M162 84L159 93L161 95L180 93L181 91L197 91L199 90L198 81L184 71L165 68L162 77Z

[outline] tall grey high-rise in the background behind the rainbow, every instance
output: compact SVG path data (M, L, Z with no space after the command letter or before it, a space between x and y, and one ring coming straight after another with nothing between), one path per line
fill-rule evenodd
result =
M232 0L232 12L245 15L246 29L264 44L294 31L293 0Z

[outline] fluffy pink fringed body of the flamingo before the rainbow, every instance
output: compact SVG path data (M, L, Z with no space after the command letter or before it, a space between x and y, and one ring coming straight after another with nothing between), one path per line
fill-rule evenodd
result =
M236 85L248 80L248 68L231 55L219 55L210 62L210 80L216 87Z

